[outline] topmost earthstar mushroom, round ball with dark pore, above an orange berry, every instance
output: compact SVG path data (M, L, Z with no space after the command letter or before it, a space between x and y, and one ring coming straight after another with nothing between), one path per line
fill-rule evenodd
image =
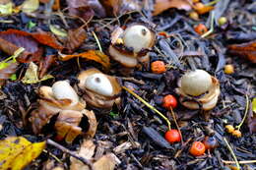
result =
M109 54L121 65L133 68L149 61L149 50L155 44L155 32L143 25L117 28L112 33Z

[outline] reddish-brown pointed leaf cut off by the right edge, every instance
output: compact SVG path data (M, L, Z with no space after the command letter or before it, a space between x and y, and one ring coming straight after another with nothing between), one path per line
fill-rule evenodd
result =
M256 63L256 41L228 45L227 49L230 54L244 57L252 63Z

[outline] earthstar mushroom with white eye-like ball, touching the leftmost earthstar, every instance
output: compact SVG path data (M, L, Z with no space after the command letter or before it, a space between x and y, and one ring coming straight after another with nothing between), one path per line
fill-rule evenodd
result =
M83 71L78 76L83 98L96 108L110 109L114 103L119 104L121 86L115 77L102 74L96 69Z

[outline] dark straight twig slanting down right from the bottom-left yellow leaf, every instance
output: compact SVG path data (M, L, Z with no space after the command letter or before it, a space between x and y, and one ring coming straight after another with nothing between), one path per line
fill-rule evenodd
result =
M78 153L76 153L75 151L71 151L71 150L65 148L64 146L58 144L57 142L53 142L52 140L49 140L49 139L46 141L46 143L57 147L58 149L62 150L62 151L65 152L65 153L70 154L72 157L75 157L75 158L77 158L78 160L80 160L80 161L82 161L83 163L85 163L86 165L88 165L91 170L94 170L93 163L92 163L90 160L88 160L88 159L86 159L86 158L80 156L80 155L79 155Z

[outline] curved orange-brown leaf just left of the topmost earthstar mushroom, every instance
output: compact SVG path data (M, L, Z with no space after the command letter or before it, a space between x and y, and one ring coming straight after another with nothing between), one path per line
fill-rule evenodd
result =
M110 67L109 57L107 55L105 55L104 53L102 53L100 51L96 51L96 50L89 50L87 52L83 52L80 54L74 54L74 55L64 55L64 54L59 55L59 59L62 61L67 61L67 60L70 60L70 59L76 58L76 57L81 57L81 58L85 58L88 60L94 60L97 63L100 63L105 68Z

